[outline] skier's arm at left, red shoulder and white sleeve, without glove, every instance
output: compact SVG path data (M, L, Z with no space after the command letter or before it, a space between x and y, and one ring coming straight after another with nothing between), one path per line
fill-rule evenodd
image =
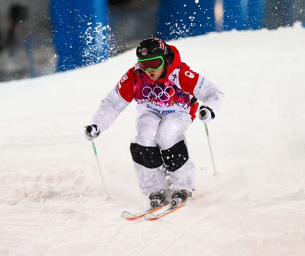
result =
M99 127L100 132L106 130L116 120L118 115L124 111L133 99L132 79L129 72L117 83L115 88L102 100L99 109L93 116L92 123Z

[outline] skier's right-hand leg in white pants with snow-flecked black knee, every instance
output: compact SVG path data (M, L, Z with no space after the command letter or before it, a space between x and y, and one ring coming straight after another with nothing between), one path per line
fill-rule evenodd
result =
M173 190L195 188L195 165L189 157L185 132L192 123L186 112L170 113L162 117L156 140L170 175Z

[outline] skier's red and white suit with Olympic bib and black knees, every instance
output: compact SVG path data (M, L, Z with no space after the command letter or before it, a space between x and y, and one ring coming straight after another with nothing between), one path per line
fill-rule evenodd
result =
M93 117L100 131L107 129L134 99L136 131L130 151L144 195L171 187L194 189L195 166L189 157L185 132L197 111L192 97L203 102L215 117L223 93L212 82L192 71L174 53L165 78L152 81L136 64L102 100Z

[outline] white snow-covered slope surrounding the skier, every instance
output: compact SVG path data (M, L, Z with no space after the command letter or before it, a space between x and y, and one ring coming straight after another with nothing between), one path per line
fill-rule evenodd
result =
M210 33L172 42L225 94L187 132L208 193L158 222L127 222L147 206L129 153L135 103L96 139L105 200L83 127L135 62L134 50L88 68L0 84L0 255L303 256L305 29Z

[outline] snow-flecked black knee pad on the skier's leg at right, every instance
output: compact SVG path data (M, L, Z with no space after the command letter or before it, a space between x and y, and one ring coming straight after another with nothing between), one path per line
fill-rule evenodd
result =
M171 172L178 170L189 160L189 152L184 140L161 152L164 164L167 170Z

